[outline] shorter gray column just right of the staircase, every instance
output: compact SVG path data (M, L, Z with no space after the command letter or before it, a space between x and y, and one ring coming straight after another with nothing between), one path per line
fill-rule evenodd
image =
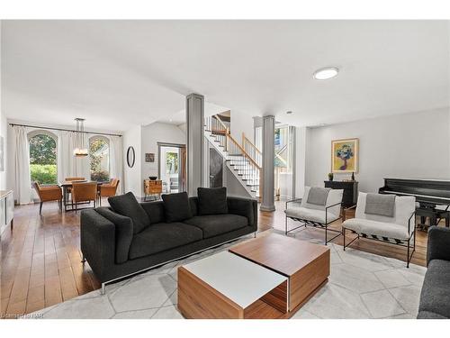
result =
M263 200L262 211L275 211L275 116L263 118Z

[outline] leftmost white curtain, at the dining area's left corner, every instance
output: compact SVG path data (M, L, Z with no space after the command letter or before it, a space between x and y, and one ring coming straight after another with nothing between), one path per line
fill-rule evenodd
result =
M30 149L26 128L14 125L14 195L19 205L31 203Z

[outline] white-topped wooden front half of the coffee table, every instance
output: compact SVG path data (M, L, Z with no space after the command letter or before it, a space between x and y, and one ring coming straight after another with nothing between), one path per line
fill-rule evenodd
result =
M186 318L279 318L287 278L229 251L178 268L178 310Z

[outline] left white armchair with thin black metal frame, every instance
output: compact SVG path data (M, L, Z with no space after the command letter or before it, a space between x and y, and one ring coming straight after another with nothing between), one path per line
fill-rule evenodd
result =
M293 199L286 202L286 209L284 210L285 218L285 234L288 234L302 226L314 226L325 230L325 245L328 242L333 241L339 235L340 230L330 229L329 224L338 221L340 219L340 208L342 203L342 195L344 190L342 189L330 189L326 200L323 203L309 203L311 187L305 187L305 191L302 198ZM295 206L293 203L300 203L300 206ZM288 230L288 218L293 221L301 222L302 225ZM334 237L329 239L329 231L338 233Z

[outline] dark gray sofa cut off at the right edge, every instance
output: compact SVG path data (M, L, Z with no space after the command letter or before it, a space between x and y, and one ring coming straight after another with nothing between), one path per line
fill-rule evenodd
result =
M450 318L450 229L428 230L428 270L420 294L419 319Z

